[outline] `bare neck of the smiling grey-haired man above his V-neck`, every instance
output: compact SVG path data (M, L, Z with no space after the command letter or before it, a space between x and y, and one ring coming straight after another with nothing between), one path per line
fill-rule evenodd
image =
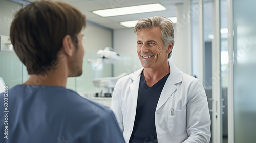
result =
M157 67L157 68L144 68L143 74L146 80L146 84L151 87L159 80L161 80L165 75L170 73L170 67L168 62Z

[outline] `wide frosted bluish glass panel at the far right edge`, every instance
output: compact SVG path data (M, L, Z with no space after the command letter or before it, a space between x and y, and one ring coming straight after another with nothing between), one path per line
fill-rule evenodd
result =
M255 142L256 11L254 0L234 0L234 142Z

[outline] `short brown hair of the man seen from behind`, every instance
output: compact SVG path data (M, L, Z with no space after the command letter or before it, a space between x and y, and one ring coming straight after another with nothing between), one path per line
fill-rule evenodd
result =
M77 34L86 27L86 17L63 2L38 1L19 10L11 24L14 51L28 74L40 74L57 60L62 39L70 35L77 46Z

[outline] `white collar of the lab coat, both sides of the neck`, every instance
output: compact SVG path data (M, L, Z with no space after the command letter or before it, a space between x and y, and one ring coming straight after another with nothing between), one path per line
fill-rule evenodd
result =
M182 72L180 71L179 68L177 68L172 62L169 62L169 65L170 65L170 80L174 83L174 84L177 84L177 83L180 83L183 78L182 78ZM135 71L134 73L132 73L130 75L130 78L132 80L135 80L136 78L138 78L141 74L141 72L143 71L144 67L142 67L141 69Z

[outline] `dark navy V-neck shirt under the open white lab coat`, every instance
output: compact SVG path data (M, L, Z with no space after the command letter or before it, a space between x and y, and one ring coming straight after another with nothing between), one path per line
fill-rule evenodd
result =
M167 74L152 87L148 87L143 72L140 76L136 116L129 142L157 142L155 111Z

